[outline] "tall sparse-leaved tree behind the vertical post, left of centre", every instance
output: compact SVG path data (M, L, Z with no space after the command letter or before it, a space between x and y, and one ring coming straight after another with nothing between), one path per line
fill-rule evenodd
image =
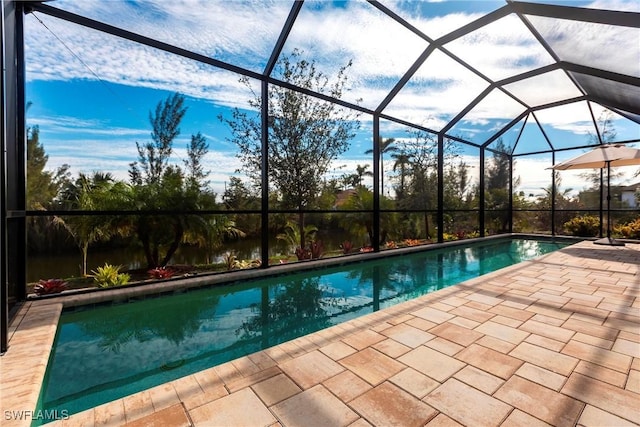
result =
M302 52L294 50L278 61L274 77L340 99L349 67L351 61L330 81L316 69L315 62L303 59ZM248 79L241 81L251 89ZM358 114L338 104L277 85L269 87L267 96L269 182L278 193L283 208L300 212L300 246L304 248L303 211L320 194L323 177L331 162L347 150L349 140L359 127ZM261 104L261 96L254 93L249 107L260 110ZM231 130L231 141L238 146L244 171L259 183L262 177L260 116L235 109L231 118L221 116L220 119Z

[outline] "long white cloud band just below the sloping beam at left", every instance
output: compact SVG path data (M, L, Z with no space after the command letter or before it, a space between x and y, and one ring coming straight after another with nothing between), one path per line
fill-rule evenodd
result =
M231 107L246 107L251 97L234 73L51 17L42 20L64 45L37 21L27 20L30 81L100 78L107 83L179 91Z

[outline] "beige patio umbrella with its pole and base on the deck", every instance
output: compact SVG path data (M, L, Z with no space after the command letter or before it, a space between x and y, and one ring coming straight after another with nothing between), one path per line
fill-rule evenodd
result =
M596 240L599 245L624 246L611 238L611 168L640 165L640 150L622 144L601 145L592 151L554 165L554 170L607 168L607 237Z

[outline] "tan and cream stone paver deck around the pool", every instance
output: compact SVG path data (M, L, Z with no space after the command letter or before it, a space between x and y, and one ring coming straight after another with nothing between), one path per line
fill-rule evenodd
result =
M13 414L61 309L12 324L3 426L30 423ZM49 425L640 426L638 408L640 244L582 242Z

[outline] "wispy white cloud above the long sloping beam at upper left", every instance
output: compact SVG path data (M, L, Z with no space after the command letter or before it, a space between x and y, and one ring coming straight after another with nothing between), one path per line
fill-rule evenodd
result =
M55 6L218 59L242 56L254 67L266 62L290 9L281 1L210 0L59 0Z

